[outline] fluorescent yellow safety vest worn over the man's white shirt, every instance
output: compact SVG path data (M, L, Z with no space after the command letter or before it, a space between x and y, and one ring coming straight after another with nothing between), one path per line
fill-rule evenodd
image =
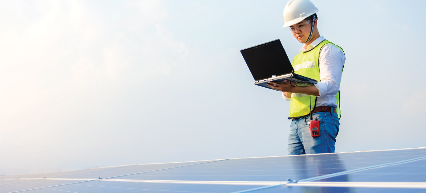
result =
M308 78L312 78L320 82L320 52L322 46L326 44L336 46L340 50L343 49L339 46L331 43L328 40L323 40L320 44L315 46L315 48L308 50L306 52L300 52L293 58L293 63L291 64L294 68L294 73ZM345 54L345 52L343 52ZM344 64L343 64L344 65ZM343 68L342 68L343 72ZM301 86L301 85L299 85ZM290 118L299 118L309 115L311 111L314 110L317 104L317 96L311 96L311 101L309 101L310 95L305 95L301 93L292 93L290 100ZM337 115L340 119L340 90L336 95L336 104L337 104ZM311 105L310 105L311 104ZM311 106L311 108L309 107Z

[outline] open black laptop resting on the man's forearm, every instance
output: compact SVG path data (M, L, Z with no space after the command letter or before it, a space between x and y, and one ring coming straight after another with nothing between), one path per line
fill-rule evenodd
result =
M317 81L294 73L293 66L279 39L241 50L242 57L254 78L254 84L268 89L268 82L289 80L298 86L317 84ZM312 64L314 65L314 64ZM276 89L273 89L276 90ZM279 91L279 90L278 90Z

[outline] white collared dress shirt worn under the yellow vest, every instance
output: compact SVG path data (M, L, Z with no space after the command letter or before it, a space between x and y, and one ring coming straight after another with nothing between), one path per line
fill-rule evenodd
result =
M320 44L324 37L318 37L309 46L301 51L308 51L314 49ZM320 96L317 98L317 107L331 106L337 108L336 95L339 92L340 79L342 77L343 64L345 64L346 57L343 52L331 45L325 45L320 52L320 82L314 84L317 87ZM282 92L282 96L286 101L290 101Z

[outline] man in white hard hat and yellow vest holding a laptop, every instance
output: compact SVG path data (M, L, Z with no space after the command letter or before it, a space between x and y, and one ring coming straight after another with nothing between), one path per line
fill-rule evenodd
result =
M290 101L291 126L288 137L288 155L334 153L339 132L340 79L345 54L318 32L318 9L309 0L291 0L284 8L284 27L289 27L302 49L293 58L294 73L318 81L310 86L269 82L268 86L282 91ZM309 124L320 121L320 136L312 137Z

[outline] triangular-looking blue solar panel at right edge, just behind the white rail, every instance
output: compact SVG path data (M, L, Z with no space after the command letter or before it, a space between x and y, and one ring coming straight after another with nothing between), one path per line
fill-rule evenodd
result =
M319 181L426 182L426 159L363 170Z

